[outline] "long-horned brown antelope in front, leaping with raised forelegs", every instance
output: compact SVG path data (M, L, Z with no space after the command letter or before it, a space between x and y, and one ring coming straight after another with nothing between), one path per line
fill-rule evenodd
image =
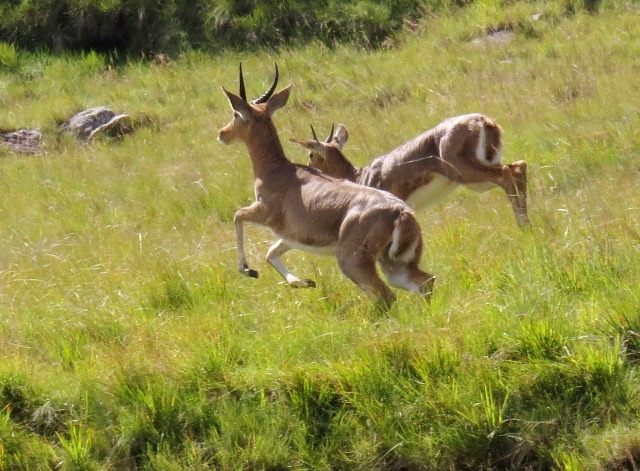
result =
M435 277L418 268L423 241L411 208L387 192L339 180L287 159L271 118L287 103L293 85L275 92L277 65L271 87L251 102L247 101L242 65L239 83L239 95L222 87L233 118L218 132L223 144L243 142L253 167L256 200L234 215L238 270L258 277L244 252L243 225L251 222L268 227L279 237L266 258L292 287L315 286L289 272L280 260L296 248L334 255L342 273L383 310L391 307L395 296L378 275L376 263L392 286L429 299Z

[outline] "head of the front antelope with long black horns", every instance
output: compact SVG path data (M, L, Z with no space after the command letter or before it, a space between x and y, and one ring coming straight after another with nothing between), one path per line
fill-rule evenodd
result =
M242 75L242 64L240 64L239 95L222 87L222 91L227 96L229 104L233 109L233 118L229 124L218 132L218 140L220 142L223 144L230 144L236 140L249 142L253 135L264 135L264 131L261 131L261 129L265 127L273 128L271 116L287 103L291 87L293 86L288 85L277 93L274 93L279 77L277 64L275 68L275 77L271 87L255 100L247 100L247 92Z

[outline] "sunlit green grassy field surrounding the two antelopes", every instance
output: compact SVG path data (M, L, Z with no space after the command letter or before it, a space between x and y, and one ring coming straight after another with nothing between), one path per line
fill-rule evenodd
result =
M536 15L534 19L534 15ZM540 15L540 16L538 16ZM475 3L377 51L188 53L112 68L96 54L0 48L0 469L636 469L640 464L640 15ZM491 28L505 43L476 41ZM334 260L291 252L293 290L245 237L246 149L222 146L220 86L292 99L371 158L483 112L530 171L533 227L504 194L461 190L419 214L430 306L377 314ZM136 124L81 145L57 126L107 105Z

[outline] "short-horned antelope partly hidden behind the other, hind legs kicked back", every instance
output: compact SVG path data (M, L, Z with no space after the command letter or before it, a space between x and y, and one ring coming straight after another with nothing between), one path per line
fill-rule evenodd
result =
M357 168L341 150L348 133L339 125L320 143L297 140L310 150L309 166L335 178L389 191L415 210L434 204L463 185L474 191L501 187L509 197L516 222L529 225L527 163L502 164L502 128L479 113L442 121L392 150Z

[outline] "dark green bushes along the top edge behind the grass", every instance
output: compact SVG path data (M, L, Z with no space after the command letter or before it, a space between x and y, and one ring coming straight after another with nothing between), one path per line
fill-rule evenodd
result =
M423 0L5 0L0 41L30 50L133 55L312 40L375 47L426 6Z

